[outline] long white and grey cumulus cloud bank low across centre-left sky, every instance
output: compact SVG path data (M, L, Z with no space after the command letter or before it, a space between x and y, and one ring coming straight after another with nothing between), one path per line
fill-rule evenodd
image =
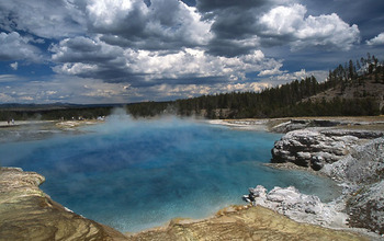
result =
M134 85L212 81L244 81L246 72L275 71L282 64L267 58L261 50L239 57L206 54L200 48L173 51L123 48L100 39L66 38L50 48L58 73L100 78L109 82L132 82ZM179 80L178 80L179 79ZM205 80L203 80L205 79Z

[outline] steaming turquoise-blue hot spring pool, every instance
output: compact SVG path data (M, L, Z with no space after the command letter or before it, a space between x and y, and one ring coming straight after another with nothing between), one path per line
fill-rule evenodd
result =
M203 218L258 184L296 186L329 200L335 184L266 168L281 135L178 118L114 116L86 134L2 144L1 164L36 171L41 186L69 209L121 231Z

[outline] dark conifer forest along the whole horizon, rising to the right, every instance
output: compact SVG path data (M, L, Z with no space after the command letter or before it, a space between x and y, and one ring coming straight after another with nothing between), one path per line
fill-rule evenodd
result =
M327 81L318 82L315 77L294 80L280 87L267 88L260 92L230 92L202 95L169 102L143 102L125 105L134 117L150 117L161 114L181 116L204 116L207 118L266 118L295 116L362 116L384 114L377 96L364 91L370 82L384 84L384 65L375 56L349 60L330 70ZM354 87L361 92L352 99L342 94ZM310 96L327 90L337 90L331 100ZM57 110L2 110L0 119L72 119L108 116L115 106L76 106Z

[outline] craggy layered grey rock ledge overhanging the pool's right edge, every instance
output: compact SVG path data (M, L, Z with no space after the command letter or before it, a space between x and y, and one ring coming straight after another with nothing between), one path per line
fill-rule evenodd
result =
M384 136L383 131L307 128L293 130L274 144L272 163L293 162L315 171L346 157L362 142Z

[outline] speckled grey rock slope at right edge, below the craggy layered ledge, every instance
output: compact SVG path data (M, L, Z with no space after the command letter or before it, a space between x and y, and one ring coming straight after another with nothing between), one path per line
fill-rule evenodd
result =
M326 164L328 176L345 182L351 227L384 233L384 138L354 148L342 160Z

